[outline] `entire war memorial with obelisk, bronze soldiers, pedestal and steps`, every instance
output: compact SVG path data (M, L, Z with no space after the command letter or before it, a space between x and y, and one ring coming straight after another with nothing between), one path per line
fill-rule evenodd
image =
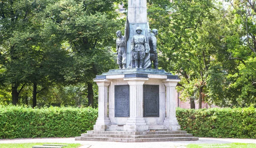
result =
M175 109L175 87L180 79L158 69L157 34L157 29L149 29L146 0L128 0L125 31L116 31L119 69L94 79L99 87L98 118L93 131L76 140L198 140L180 131Z

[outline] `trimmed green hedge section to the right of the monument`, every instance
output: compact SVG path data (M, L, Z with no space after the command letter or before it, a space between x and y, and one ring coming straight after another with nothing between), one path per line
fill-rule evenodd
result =
M256 109L177 108L177 120L181 130L196 137L256 138Z

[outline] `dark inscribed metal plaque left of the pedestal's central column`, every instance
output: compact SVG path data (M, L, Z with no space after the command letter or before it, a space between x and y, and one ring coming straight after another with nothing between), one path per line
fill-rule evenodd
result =
M115 117L130 116L129 93L129 85L115 85Z

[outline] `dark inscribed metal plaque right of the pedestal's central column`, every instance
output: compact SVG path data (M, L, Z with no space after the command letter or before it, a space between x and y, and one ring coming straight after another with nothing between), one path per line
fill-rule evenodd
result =
M143 85L143 116L159 117L159 85Z

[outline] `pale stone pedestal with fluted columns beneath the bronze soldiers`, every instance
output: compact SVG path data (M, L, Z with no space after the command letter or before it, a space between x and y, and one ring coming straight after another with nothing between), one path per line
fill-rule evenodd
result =
M177 75L166 73L165 70L131 68L109 70L108 73L97 75L94 81L99 86L99 117L93 126L94 130L105 131L111 128L110 125L123 126L123 131L148 131L149 126L162 126L171 131L180 130L175 109L175 87L180 81ZM121 87L125 85L128 87ZM125 89L129 95L122 92L123 89L122 91L115 90L115 87ZM154 92L152 95L149 88L157 89L157 91L152 90ZM129 99L127 101L124 98ZM152 101L155 101L154 98L157 98L156 102L159 103L150 105ZM119 99L119 104L116 106L115 99ZM148 99L145 101L148 103L146 105L143 102L145 99ZM127 105L123 104L127 102L129 102L128 109ZM122 114L120 111L122 107L128 110L129 114ZM149 109L150 111L153 109L153 114L156 111L157 115L144 116L143 113L146 111L151 113Z

